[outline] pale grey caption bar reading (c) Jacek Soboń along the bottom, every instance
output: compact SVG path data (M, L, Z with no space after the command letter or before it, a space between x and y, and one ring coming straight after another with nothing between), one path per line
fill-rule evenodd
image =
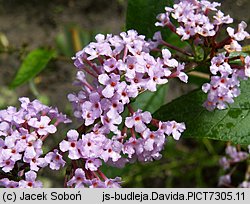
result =
M250 203L250 189L122 188L122 189L0 189L0 203Z

